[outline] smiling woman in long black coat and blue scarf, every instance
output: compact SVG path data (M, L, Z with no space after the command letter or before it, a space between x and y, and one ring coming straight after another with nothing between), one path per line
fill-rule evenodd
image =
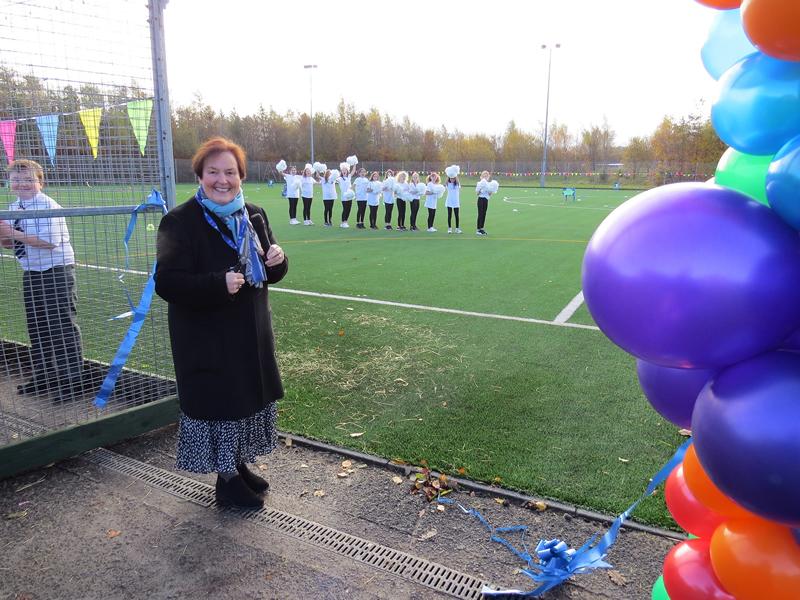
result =
M220 504L260 508L269 484L246 463L276 444L283 386L267 286L288 263L264 210L244 202L238 145L212 138L192 168L200 187L161 220L155 275L181 407L177 467L217 472Z

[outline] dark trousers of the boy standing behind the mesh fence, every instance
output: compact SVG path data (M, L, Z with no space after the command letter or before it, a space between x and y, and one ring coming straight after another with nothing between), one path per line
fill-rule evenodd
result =
M33 379L42 383L78 383L83 368L77 323L75 266L22 274L22 297L31 340Z

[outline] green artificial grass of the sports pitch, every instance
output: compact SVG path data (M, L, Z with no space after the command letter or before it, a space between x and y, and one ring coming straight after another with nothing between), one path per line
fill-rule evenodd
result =
M193 190L180 186L178 198ZM465 233L448 235L443 201L437 233L340 229L339 202L335 226L326 229L319 196L317 225L290 226L280 186L245 188L249 200L266 208L289 256L279 287L546 321L580 290L581 259L594 229L633 193L579 190L580 201L565 204L560 189L501 188L490 201L489 236L481 238L473 190L465 183ZM58 190L49 191L59 199ZM420 210L419 224L426 214ZM111 221L102 233L104 252L92 249L91 220L71 223L79 260L119 261L121 244L114 240L121 240L125 222ZM147 268L154 232L142 225L136 235L131 266ZM124 300L113 274L81 269L78 276L84 335L91 332L93 351L109 360L122 332L104 319L124 310ZM143 278L127 279L138 294ZM14 298L17 291L0 291L6 305ZM643 398L633 359L599 331L280 292L270 298L287 390L279 404L286 431L425 460L449 473L464 469L480 481L499 478L609 514L627 508L680 443ZM154 310L163 310L160 300ZM570 322L593 324L585 306ZM636 518L674 526L660 496Z

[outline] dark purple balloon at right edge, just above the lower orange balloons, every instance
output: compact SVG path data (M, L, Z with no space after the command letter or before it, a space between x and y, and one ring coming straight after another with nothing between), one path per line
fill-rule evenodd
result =
M697 398L692 433L720 490L800 526L800 355L770 352L722 371Z

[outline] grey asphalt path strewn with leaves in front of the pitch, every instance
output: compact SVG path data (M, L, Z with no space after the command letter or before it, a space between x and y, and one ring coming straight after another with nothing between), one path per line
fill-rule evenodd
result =
M111 447L174 470L175 428ZM263 457L267 506L432 561L501 587L530 590L519 559L455 508L412 495L394 470L281 444ZM348 472L349 471L349 472ZM346 476L341 476L344 473ZM214 476L181 473L208 484ZM578 547L606 525L558 510L500 504L458 491L495 526ZM514 539L514 538L510 538ZM555 598L649 598L674 540L623 530L613 571L580 575ZM0 600L116 598L447 598L420 583L254 523L177 498L85 457L0 481Z

